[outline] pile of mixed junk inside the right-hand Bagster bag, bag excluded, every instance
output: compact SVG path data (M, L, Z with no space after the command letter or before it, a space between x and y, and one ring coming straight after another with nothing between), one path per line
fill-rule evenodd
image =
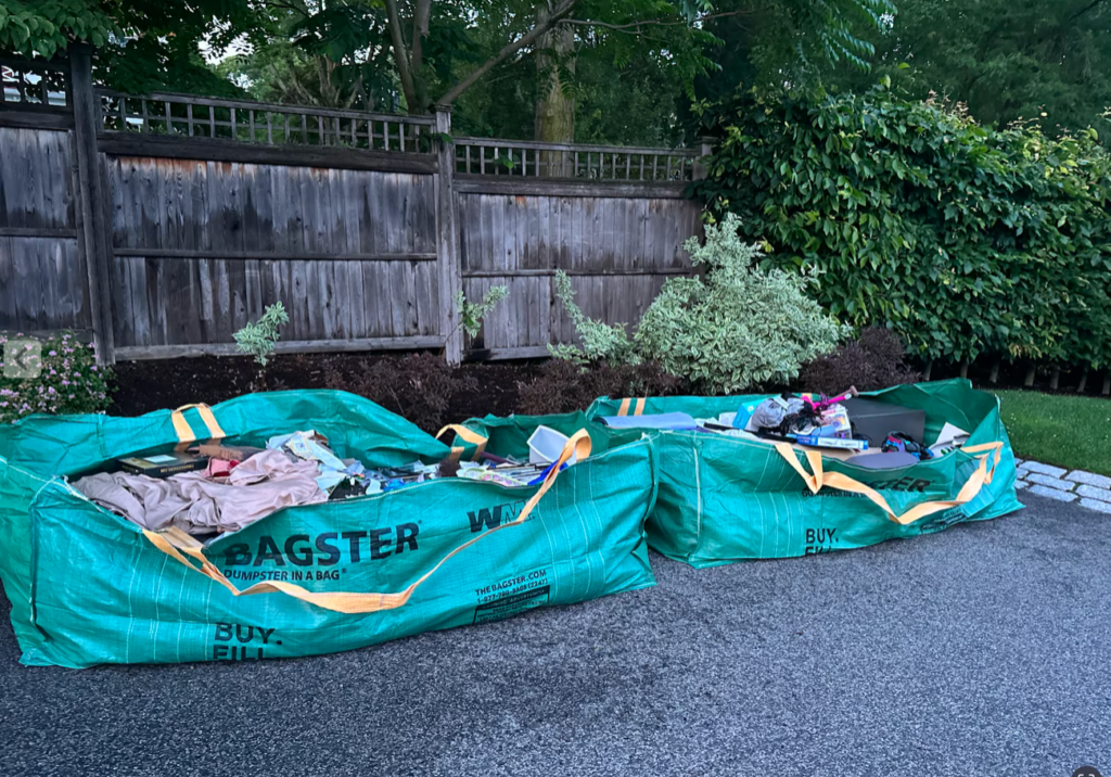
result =
M848 464L869 469L905 467L960 448L969 432L945 424L925 446L925 411L860 397L855 387L838 397L784 392L742 404L735 412L693 418L685 412L603 416L612 428L698 431L822 448ZM882 456L877 456L880 454Z

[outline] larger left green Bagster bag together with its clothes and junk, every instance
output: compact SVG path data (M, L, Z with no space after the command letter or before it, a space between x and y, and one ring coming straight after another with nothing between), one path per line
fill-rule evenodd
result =
M316 656L655 585L657 436L583 412L441 436L334 390L0 425L21 660Z

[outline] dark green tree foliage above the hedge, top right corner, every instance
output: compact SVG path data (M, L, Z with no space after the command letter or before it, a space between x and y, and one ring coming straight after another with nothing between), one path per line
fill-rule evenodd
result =
M913 97L935 92L985 124L1034 120L1051 135L1108 124L1111 2L1108 0L902 0L872 33L879 74ZM859 90L859 73L830 82Z

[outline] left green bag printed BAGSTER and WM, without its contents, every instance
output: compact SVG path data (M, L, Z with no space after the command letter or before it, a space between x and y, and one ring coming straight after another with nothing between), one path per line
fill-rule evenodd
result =
M538 486L440 478L280 509L202 546L149 531L69 484L130 455L193 440L264 446L314 429L368 467L449 448L340 391L239 397L139 418L32 416L0 428L0 575L28 665L307 656L654 585L644 521L650 439L594 448ZM588 458L589 457L589 458Z

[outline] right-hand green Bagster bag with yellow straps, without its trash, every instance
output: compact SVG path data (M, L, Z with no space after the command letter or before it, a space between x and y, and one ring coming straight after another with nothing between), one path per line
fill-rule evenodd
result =
M717 418L774 395L595 400L591 419L659 412ZM844 550L987 520L1022 507L999 400L967 380L863 394L925 411L925 442L948 421L958 450L901 469L864 469L818 450L699 431L659 435L660 486L649 545L693 567Z

